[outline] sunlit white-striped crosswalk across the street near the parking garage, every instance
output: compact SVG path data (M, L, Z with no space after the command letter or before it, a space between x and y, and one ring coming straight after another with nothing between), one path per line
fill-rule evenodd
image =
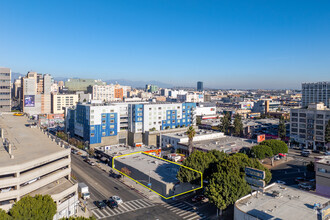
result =
M92 210L92 212L97 219L103 219L152 206L155 206L155 204L152 204L145 199L137 199L121 203L120 205L118 205L118 208L115 209L110 209L107 206L105 209L94 209Z

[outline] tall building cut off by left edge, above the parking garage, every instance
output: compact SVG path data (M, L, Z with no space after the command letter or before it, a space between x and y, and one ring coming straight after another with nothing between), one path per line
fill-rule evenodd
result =
M11 110L10 80L10 69L0 67L0 112L10 112Z

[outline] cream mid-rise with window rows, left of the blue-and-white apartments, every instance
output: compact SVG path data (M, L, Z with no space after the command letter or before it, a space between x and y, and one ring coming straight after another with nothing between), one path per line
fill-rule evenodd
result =
M75 106L77 102L76 94L52 94L52 113L63 114L64 108Z

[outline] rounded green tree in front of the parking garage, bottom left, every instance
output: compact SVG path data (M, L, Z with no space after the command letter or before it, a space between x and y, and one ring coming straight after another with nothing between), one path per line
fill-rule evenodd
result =
M26 196L13 205L9 214L14 219L53 219L56 204L50 195Z

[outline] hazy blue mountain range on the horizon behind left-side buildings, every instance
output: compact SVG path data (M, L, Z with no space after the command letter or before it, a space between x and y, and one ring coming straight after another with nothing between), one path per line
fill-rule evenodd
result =
M20 73L15 73L12 72L11 73L11 81L14 82L15 79L18 79L20 76L25 76L23 74ZM74 77L76 78L76 77ZM67 81L69 78L68 77L54 77L55 81ZM155 80L150 80L150 81L132 81L132 80L126 80L126 79L109 79L109 80L103 80L104 82L110 84L115 84L118 83L120 85L123 86L132 86L133 88L145 88L145 86L147 84L152 84L152 85L156 85L159 88L173 88L173 85L168 84L168 83L163 83L163 82L159 82L159 81L155 81Z

